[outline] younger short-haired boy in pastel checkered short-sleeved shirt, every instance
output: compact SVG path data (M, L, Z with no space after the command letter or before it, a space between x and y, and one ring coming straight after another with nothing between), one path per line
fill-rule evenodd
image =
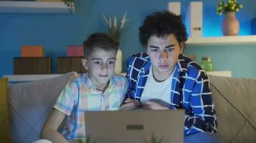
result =
M117 110L127 92L127 79L114 74L119 42L108 34L96 33L83 43L82 64L87 70L69 82L58 97L41 137L54 143L86 138L86 111ZM57 131L63 119L61 134Z

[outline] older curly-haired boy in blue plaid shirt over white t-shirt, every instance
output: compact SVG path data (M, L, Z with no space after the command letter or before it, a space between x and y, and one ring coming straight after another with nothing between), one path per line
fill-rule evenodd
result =
M128 60L129 98L121 109L185 109L185 142L219 142L207 74L183 56L182 17L155 12L145 18L139 36L146 52Z

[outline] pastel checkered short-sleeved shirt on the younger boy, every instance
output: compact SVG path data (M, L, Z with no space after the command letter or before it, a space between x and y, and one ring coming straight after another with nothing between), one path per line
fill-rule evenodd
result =
M105 92L93 86L88 74L69 82L54 108L67 115L63 136L69 141L86 138L86 111L117 110L127 94L127 78L114 75Z

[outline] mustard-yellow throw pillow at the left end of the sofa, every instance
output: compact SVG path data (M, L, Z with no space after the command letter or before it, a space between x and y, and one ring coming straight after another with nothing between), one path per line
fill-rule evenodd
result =
M7 108L7 78L0 79L0 142L11 143Z

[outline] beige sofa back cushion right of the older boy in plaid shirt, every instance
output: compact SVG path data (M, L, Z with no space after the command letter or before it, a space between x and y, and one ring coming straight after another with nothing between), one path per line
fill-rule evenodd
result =
M224 142L256 142L256 79L209 75L217 134Z

